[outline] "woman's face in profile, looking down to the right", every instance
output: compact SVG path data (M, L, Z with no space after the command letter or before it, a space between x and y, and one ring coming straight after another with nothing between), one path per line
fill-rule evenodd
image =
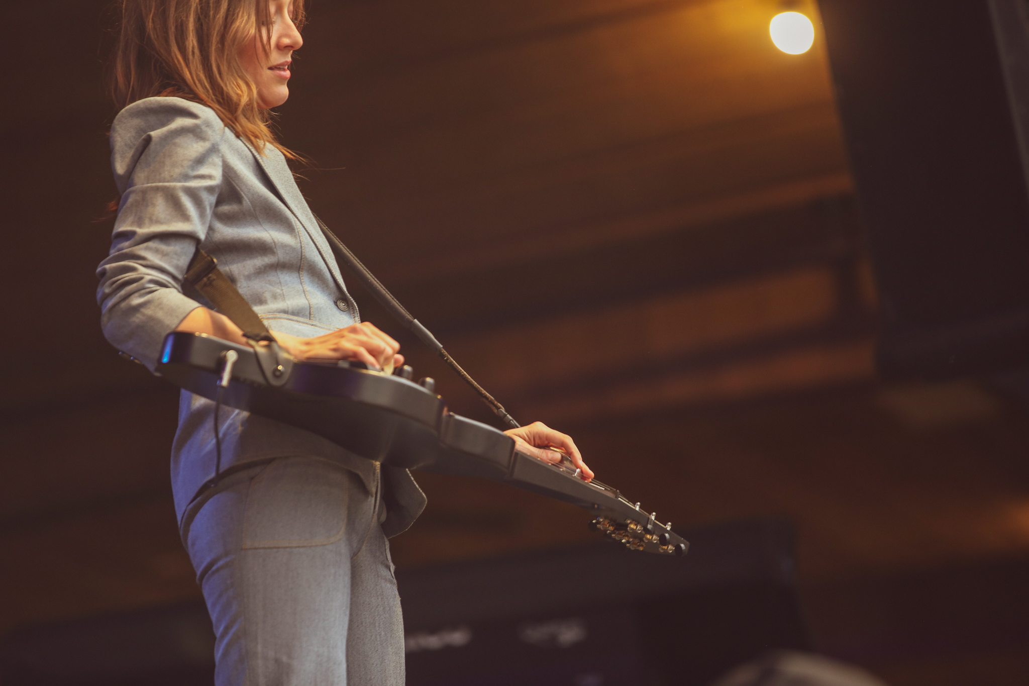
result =
M257 103L261 109L277 107L289 98L289 63L293 50L304 44L300 32L289 17L290 0L270 0L272 16L272 49L264 51L263 36L255 35L243 46L240 59L243 68L257 86Z

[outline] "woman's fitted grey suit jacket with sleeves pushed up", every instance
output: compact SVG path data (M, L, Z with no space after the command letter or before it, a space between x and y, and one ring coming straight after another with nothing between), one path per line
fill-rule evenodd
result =
M111 165L121 192L110 255L98 268L107 339L151 370L164 337L202 303L182 292L197 246L218 260L269 328L314 336L359 321L357 305L282 153L257 152L214 110L180 98L147 98L111 127ZM172 447L181 522L215 472L214 403L182 392ZM378 468L313 433L222 408L222 470L286 456L331 460L376 488ZM425 506L406 470L387 468L388 536Z

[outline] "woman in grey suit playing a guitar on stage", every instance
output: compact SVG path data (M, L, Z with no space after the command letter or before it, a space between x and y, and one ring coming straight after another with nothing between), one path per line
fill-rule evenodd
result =
M244 342L182 292L198 247L298 359L400 364L356 303L275 140L303 0L122 0L112 167L121 198L98 270L107 338L153 369L172 330ZM402 684L403 635L388 536L425 499L314 434L183 392L172 448L182 540L217 634L218 684ZM215 430L221 440L216 475ZM571 438L507 432L541 460ZM539 447L536 447L539 446Z

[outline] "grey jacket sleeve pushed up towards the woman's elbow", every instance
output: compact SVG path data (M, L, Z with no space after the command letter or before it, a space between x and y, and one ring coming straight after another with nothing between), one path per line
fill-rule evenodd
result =
M165 336L200 306L182 277L221 187L224 133L213 110L179 98L141 100L111 125L121 203L97 300L107 339L150 369Z

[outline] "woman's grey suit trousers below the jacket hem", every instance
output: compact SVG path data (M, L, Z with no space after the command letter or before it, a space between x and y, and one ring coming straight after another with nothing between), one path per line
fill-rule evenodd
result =
M353 472L280 458L233 474L190 506L183 535L214 621L217 686L402 686L379 494Z

